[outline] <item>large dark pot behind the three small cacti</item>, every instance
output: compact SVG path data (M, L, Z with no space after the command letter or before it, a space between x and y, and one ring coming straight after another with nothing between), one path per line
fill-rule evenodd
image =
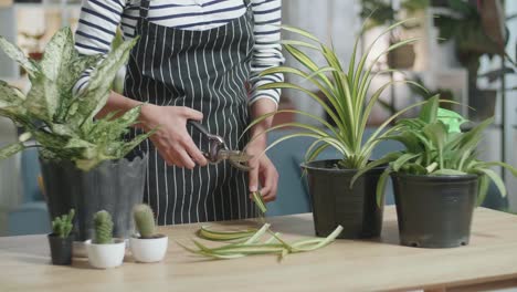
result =
M40 157L40 163L50 216L55 218L74 208L77 240L93 238L92 219L102 209L113 217L114 237L129 238L134 233L131 209L144 199L147 155L103 161L89 171L71 161Z

